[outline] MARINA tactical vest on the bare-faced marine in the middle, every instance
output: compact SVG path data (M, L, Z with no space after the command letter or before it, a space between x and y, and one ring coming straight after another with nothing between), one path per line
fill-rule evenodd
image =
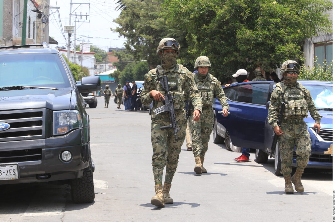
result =
M202 78L199 73L195 73L196 87L201 93L203 107L212 106L213 103L213 91L215 84L212 83L212 75L208 73L205 78Z

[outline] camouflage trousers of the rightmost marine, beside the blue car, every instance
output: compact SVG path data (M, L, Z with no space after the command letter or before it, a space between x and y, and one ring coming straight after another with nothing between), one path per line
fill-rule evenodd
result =
M293 151L295 146L297 168L304 170L307 166L311 151L311 140L307 130L307 124L282 123L278 144L281 156L281 173L292 173Z

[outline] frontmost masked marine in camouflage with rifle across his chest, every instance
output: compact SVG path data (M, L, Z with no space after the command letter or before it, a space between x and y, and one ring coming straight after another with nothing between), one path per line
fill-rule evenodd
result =
M178 157L181 152L186 129L183 93L189 97L195 108L195 119L199 119L200 112L202 111L201 95L195 87L193 73L182 65L176 64L176 57L179 54L179 50L179 43L175 39L164 38L160 41L157 54L160 56L161 66L157 66L156 69L152 69L145 74L143 90L140 94L140 100L143 105L151 104L154 99L153 110L162 106L163 102L160 97L164 98L165 92L157 80L157 77L158 75L167 75L170 92L174 94L174 110L177 127L180 128L177 133L178 138L175 139L171 128L165 130L160 129L161 126L171 124L169 113L163 112L155 115L154 111L152 111L152 166L156 195L151 199L151 203L157 207L164 207L165 203L173 203L169 190L177 168ZM162 186L165 166L165 182L164 186Z

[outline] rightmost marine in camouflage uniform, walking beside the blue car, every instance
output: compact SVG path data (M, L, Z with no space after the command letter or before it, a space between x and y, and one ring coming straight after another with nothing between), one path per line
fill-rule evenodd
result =
M284 76L282 82L277 83L272 92L269 109L268 122L274 127L274 131L279 135L278 144L281 155L281 173L285 178L285 193L294 193L295 190L303 192L301 176L308 163L311 151L311 140L307 130L307 124L303 121L308 116L315 120L313 128L320 131L322 116L317 111L314 101L301 83L297 82L300 65L295 61L285 61L280 69L280 75ZM277 124L281 102L285 102L285 111L281 128ZM293 150L296 148L296 172L292 173Z

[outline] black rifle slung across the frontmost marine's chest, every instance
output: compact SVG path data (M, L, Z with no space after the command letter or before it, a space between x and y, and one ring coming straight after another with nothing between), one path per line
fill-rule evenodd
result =
M177 139L177 132L181 129L177 128L174 104L173 104L174 94L171 95L169 91L167 75L161 76L157 78L157 80L161 83L162 88L163 90L165 90L166 95L165 95L165 100L163 101L163 106L160 106L154 109L153 111L155 115L158 115L159 113L162 113L162 112L169 112L170 124L167 126L161 126L161 130L172 128L174 131L175 139Z

